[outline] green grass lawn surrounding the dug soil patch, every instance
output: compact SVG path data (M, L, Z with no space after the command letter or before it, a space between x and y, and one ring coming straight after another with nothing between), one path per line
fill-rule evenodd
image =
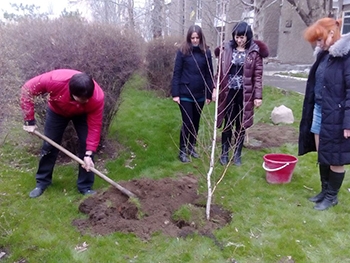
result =
M198 191L206 193L214 104L206 106L203 113L198 142L202 158L183 164L177 159L181 126L178 106L171 98L143 90L143 83L138 77L127 83L109 134L109 139L117 140L122 147L118 147L118 157L108 160L105 167L97 162L97 169L117 182L195 174L200 178ZM265 87L255 122L270 123L273 107L284 104L293 110L296 121L291 126L297 129L302 100L300 94ZM212 239L196 235L182 239L158 233L142 241L133 234L80 234L72 226L74 219L85 217L78 211L84 197L76 190L77 165L56 165L53 184L43 196L30 199L38 154L30 154L28 149L39 153L40 140L18 133L21 139L9 136L0 148L0 251L6 252L1 263L23 259L30 263L277 263L288 257L298 263L350 262L347 178L339 204L321 212L307 200L319 190L315 153L299 157L291 183L266 182L262 156L272 152L297 155L297 145L243 149L242 166L230 166L214 193L214 202L233 213L232 222L214 233L221 244L217 246ZM22 144L22 140L30 142ZM223 171L216 162L213 181ZM95 189L108 187L96 177ZM78 252L76 248L84 242L87 250Z

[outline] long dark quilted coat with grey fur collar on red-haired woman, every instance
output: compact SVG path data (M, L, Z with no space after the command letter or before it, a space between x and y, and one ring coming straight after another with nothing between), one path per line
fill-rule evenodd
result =
M327 165L350 164L350 34L342 36L329 49L329 60L322 88L322 122L318 162ZM314 109L315 71L324 52L312 66L306 85L302 118L299 127L299 155L316 151L314 134L310 132Z

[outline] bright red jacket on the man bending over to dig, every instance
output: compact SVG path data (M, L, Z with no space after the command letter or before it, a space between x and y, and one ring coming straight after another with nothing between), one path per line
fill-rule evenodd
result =
M96 151L101 136L104 93L94 81L94 94L89 101L85 104L76 102L69 92L69 80L77 73L81 72L58 69L28 80L21 90L21 108L25 121L34 120L34 97L48 94L48 106L53 112L67 118L87 114L86 150Z

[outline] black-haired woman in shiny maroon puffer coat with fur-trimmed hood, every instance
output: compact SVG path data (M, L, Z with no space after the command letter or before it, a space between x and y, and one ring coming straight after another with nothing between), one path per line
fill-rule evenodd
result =
M232 39L221 50L221 72L216 76L220 81L217 127L225 121L221 134L222 165L229 163L231 146L235 146L234 164L241 165L245 130L253 125L254 107L262 104L263 58L269 55L263 42L253 40L252 29L246 22L234 26ZM219 56L218 48L215 54ZM231 145L234 126L234 143Z

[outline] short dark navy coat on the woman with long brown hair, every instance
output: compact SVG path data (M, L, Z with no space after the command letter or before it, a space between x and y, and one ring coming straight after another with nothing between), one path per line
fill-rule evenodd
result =
M211 100L212 74L213 63L209 49L203 54L199 47L193 47L189 55L178 50L171 82L172 97Z

